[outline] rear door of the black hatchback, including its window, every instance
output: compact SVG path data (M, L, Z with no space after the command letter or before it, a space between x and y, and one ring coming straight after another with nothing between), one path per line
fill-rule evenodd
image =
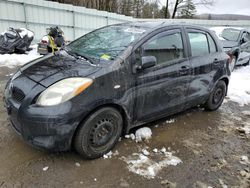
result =
M209 32L189 28L187 38L193 68L187 103L191 107L205 102L225 62Z

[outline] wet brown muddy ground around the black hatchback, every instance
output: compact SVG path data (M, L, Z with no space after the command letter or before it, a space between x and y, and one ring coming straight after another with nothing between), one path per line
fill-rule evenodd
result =
M0 68L0 97L14 69ZM123 138L109 159L84 160L74 151L47 153L27 145L11 128L0 100L0 187L250 187L250 106L227 100L216 112L194 108L148 124L149 142ZM169 121L174 120L174 122ZM182 160L155 178L130 172L124 157L142 148L168 148ZM45 168L47 167L47 168Z

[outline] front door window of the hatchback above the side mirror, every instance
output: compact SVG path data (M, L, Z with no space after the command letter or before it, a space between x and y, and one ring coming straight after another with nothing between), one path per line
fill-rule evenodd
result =
M157 64L182 59L184 49L180 32L158 34L143 45L143 56L155 56Z

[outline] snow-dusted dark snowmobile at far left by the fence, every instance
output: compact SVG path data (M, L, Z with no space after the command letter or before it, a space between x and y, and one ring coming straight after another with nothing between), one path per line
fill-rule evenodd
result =
M34 33L26 28L9 28L0 34L0 54L25 53L30 50Z

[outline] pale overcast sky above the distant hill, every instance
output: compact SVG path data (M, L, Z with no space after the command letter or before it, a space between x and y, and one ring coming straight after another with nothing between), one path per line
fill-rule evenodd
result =
M166 0L160 0L160 2L163 5L166 4ZM211 13L250 15L250 0L214 0L213 6L197 6L196 10L197 14Z

